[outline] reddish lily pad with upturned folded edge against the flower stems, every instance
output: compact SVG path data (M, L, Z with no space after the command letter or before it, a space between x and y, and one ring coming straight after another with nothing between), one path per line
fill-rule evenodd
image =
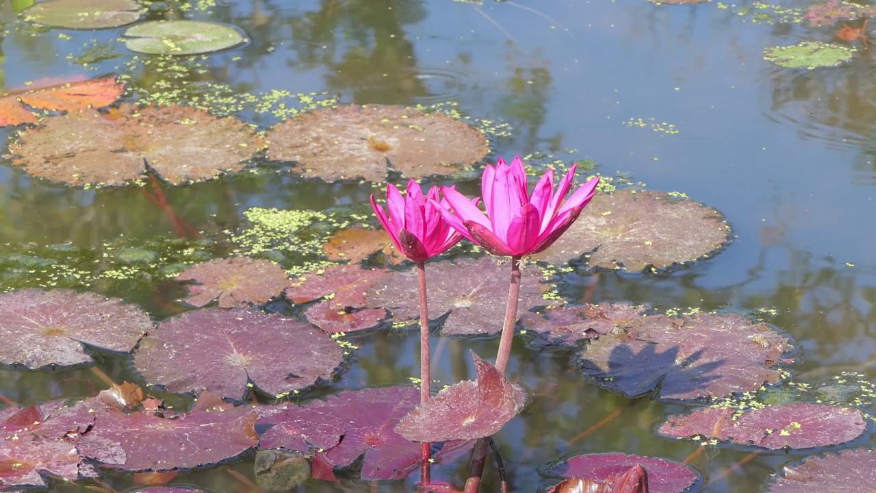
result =
M477 381L466 380L438 392L395 426L411 441L434 443L489 437L517 416L526 394L490 363L471 353Z

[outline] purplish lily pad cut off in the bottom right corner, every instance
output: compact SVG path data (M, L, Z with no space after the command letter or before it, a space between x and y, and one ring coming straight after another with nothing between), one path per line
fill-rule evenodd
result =
M861 493L876 484L876 450L846 450L785 466L770 493Z

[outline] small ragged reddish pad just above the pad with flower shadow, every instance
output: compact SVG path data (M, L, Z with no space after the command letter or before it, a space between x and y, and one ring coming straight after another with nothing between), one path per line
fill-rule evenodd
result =
M620 303L555 306L545 310L543 315L526 312L520 322L549 342L576 346L581 339L593 339L615 329L642 325L646 310L646 306Z

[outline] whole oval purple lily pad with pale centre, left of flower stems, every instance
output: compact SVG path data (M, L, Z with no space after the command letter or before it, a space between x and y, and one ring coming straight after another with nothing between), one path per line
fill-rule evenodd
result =
M343 349L325 332L279 315L208 308L159 325L140 343L134 364L172 392L207 389L244 397L247 380L275 396L327 379Z

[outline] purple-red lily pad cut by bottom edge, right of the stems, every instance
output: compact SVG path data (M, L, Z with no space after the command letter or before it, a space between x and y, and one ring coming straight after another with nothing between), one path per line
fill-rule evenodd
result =
M554 464L545 474L593 479L612 485L635 466L647 471L650 493L682 493L700 479L694 469L681 462L627 454L576 455Z

